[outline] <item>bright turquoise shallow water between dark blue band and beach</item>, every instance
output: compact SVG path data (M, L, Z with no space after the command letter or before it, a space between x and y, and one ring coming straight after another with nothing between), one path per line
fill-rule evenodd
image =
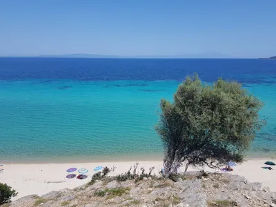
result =
M154 130L159 100L172 100L178 84L1 81L1 157L5 161L161 157L161 142ZM252 152L273 152L275 137L270 132L275 132L276 123L275 86L250 86L266 102L261 115L268 121Z

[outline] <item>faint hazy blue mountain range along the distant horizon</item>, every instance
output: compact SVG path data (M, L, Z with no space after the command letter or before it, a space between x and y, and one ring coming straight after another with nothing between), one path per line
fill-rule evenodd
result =
M186 54L186 55L97 55L97 54L66 54L66 55L39 55L36 57L52 57L52 58L159 58L159 59L181 59L181 58L233 58L217 52L202 54Z

